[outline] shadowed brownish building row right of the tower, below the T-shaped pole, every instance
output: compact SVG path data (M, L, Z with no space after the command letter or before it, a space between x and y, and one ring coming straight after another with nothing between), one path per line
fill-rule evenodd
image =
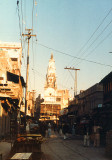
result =
M99 83L80 92L69 103L68 114L62 118L68 119L70 124L86 123L93 114L93 110L103 106L103 86Z

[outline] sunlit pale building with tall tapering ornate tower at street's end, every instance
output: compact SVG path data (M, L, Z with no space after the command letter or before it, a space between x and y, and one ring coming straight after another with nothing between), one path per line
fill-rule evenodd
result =
M56 120L60 110L68 106L69 92L68 90L57 89L53 54L51 54L48 64L44 91L44 102L41 103L40 119Z

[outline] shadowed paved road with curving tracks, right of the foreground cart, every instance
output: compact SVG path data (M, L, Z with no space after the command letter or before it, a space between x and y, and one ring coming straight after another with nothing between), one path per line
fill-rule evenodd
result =
M104 148L83 147L83 141L52 135L42 144L44 160L108 160Z

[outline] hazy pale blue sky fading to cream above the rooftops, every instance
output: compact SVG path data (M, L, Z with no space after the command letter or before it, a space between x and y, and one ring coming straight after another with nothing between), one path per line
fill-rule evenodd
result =
M65 67L80 69L78 92L100 82L110 73L111 8L112 0L19 0L18 7L16 0L1 1L0 41L21 42L20 34L27 33L25 27L33 27L33 34L37 35L37 41L34 37L30 39L29 90L35 89L37 95L43 93L51 53L59 89L67 88L73 93L75 72L69 72ZM25 78L25 38L22 38L22 44L22 75Z

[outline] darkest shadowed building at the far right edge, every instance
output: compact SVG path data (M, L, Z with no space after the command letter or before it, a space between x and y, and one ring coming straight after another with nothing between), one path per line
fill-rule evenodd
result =
M103 107L99 111L100 121L105 132L112 130L112 72L106 75L100 84L103 85Z

